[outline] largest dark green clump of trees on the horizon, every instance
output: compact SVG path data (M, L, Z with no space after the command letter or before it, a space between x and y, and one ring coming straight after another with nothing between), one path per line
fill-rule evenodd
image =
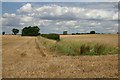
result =
M22 29L22 36L37 36L40 28L38 26L29 26Z

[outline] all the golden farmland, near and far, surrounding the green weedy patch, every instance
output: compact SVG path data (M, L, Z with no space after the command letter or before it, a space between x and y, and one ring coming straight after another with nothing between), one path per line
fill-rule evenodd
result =
M117 35L61 35L61 40L43 37L2 36L3 78L117 78L118 54L67 56L60 44L95 42L118 47ZM63 43L66 41L65 43ZM63 45L63 46L64 46ZM62 47L63 47L62 46ZM74 45L73 45L74 46Z

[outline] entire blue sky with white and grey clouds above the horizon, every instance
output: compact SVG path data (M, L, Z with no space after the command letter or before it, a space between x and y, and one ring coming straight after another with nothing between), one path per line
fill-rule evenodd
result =
M15 1L15 0L14 0ZM107 0L106 0L107 1ZM117 2L3 2L2 27L39 26L41 33L117 33Z

